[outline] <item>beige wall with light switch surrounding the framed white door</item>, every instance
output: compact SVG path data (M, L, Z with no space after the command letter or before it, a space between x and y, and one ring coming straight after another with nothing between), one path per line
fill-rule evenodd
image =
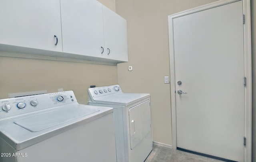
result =
M216 0L116 0L116 12L127 20L129 62L118 64L118 83L125 92L150 93L153 141L172 145L168 15ZM252 9L253 98L256 94L256 2ZM128 72L128 66L133 70ZM256 162L256 100L253 100L253 159Z

